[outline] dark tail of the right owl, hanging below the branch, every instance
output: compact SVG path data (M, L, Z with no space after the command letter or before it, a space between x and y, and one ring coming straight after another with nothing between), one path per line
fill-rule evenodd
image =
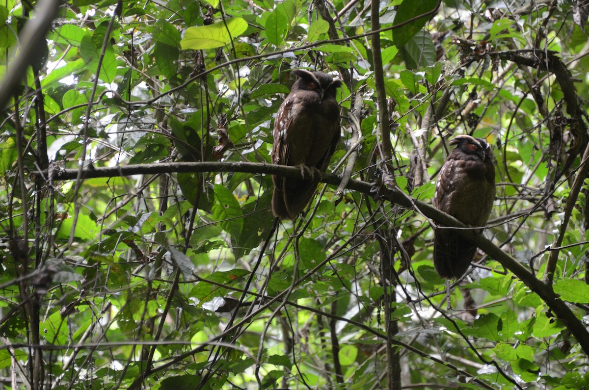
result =
M434 267L439 276L459 279L471 265L477 252L474 241L449 229L435 229Z

